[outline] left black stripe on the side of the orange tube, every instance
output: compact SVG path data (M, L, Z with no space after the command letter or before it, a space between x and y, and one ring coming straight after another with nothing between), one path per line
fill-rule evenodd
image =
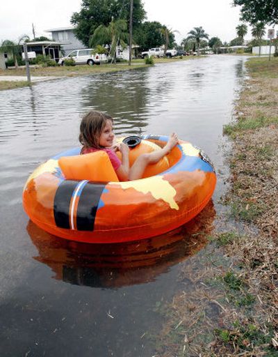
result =
M54 218L57 227L70 229L70 200L79 181L65 180L54 197Z

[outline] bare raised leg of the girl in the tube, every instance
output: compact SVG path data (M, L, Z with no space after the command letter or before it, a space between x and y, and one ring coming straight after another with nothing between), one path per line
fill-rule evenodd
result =
M178 137L174 132L170 135L170 138L167 144L158 151L152 151L152 153L143 153L140 155L132 167L129 170L129 180L138 180L141 179L142 174L144 174L145 168L149 164L156 164L161 158L163 158L167 153L173 149L174 146L177 145Z

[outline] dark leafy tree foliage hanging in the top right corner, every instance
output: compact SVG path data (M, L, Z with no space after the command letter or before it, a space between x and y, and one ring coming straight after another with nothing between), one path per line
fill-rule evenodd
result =
M234 6L241 6L240 20L256 24L277 24L278 4L277 0L234 0Z

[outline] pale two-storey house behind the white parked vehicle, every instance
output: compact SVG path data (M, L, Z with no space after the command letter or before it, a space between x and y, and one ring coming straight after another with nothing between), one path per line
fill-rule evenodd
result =
M67 54L69 54L72 50L80 50L81 48L84 48L83 43L81 43L81 41L74 35L74 26L58 27L56 29L44 31L51 33L52 40L63 42L61 50L65 56L67 56Z

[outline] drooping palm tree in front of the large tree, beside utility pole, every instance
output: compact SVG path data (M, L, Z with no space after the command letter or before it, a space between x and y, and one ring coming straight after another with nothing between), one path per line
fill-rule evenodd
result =
M108 26L100 25L95 29L95 32L90 37L90 47L97 45L111 44L109 55L111 63L116 60L117 46L126 47L129 38L129 33L126 32L126 20L115 20L112 18Z

